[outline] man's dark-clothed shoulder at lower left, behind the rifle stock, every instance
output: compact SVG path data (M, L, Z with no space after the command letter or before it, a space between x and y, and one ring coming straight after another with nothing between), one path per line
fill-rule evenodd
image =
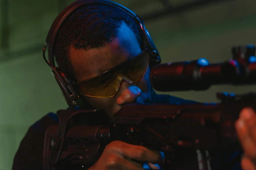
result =
M58 124L58 122L59 119L55 113L48 113L29 127L15 154L12 170L43 169L44 134L48 127Z

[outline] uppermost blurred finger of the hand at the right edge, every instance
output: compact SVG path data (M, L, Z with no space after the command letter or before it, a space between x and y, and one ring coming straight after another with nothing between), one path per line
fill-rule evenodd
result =
M240 113L240 118L245 122L248 133L256 144L256 114L252 108L244 108Z

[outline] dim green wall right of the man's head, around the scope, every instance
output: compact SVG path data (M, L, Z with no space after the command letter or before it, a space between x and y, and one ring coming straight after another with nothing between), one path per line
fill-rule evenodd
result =
M231 47L256 45L256 1L243 0L185 12L147 24L162 63L206 58L210 63L232 58ZM255 86L212 86L207 91L167 92L200 102L217 102L216 92L245 93ZM162 93L162 92L159 92Z

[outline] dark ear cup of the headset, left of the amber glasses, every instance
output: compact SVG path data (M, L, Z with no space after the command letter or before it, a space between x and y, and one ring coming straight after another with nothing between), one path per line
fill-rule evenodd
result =
M52 70L52 75L55 77L64 98L69 107L84 107L85 102L80 98L78 93L73 89L71 83L65 77L65 75L60 71L59 68L55 68Z

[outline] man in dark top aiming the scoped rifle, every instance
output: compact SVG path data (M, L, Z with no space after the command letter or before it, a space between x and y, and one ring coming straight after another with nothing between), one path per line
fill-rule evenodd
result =
M82 97L88 102L89 106L105 110L109 117L112 117L123 105L128 103L193 102L173 96L156 95L150 85L148 65L145 67L145 74L137 80L137 84L132 84L129 79L122 77L122 81L117 81L120 82L116 85L118 91L106 91L106 88L109 87L108 83L112 82L113 76L115 76L114 78L120 78L119 75L97 76L113 67L116 69L128 59L136 58L137 60L142 56L144 50L138 25L118 8L107 5L89 5L73 11L60 28L54 49L58 66L67 77L78 82L78 91L84 94ZM142 62L130 65L133 67L133 71L136 68L141 68L145 63L148 64L146 58L142 57L139 61ZM88 81L88 79L90 80ZM94 89L101 89L98 95L90 95L90 92L95 94ZM99 94L105 97L102 98ZM247 111L245 110L245 113ZM256 117L254 113L251 115ZM242 127L243 131L239 130L238 134L242 138L246 138L243 137L243 134L246 133L244 133L245 126L241 126L243 125L241 122L244 122L242 118L238 123L240 126L237 127ZM13 170L42 169L44 133L50 125L57 123L58 118L51 113L29 128L15 155ZM252 138L246 139L252 140ZM250 142L251 146L255 145L255 142ZM246 147L247 143L243 146ZM247 153L249 152L246 152L247 156L253 156ZM106 147L100 159L90 170L143 169L141 164L133 162L131 159L148 162L152 169L159 169L153 163L159 161L161 155L159 152L142 146L115 141ZM252 165L249 159L245 159L243 163L245 164L244 167L247 165L248 168Z

